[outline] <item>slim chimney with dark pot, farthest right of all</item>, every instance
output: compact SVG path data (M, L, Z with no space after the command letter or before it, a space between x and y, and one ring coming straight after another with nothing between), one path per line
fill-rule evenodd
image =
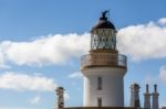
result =
M159 109L158 106L158 96L159 94L157 92L157 85L154 85L154 92L152 94L153 99L152 99L152 109Z

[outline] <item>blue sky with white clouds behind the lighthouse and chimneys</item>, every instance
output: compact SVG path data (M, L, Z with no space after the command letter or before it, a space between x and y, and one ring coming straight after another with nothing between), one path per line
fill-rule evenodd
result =
M129 85L158 84L166 106L165 0L0 0L0 109L52 109L54 87L64 86L65 105L82 106L80 58L89 31L103 10L118 30L117 46L128 56ZM83 47L84 46L84 47Z

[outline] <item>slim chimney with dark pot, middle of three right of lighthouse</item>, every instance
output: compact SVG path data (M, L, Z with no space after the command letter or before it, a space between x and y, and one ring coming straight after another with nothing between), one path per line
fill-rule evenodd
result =
M151 109L151 94L148 90L148 84L146 85L146 91L144 94L144 109Z

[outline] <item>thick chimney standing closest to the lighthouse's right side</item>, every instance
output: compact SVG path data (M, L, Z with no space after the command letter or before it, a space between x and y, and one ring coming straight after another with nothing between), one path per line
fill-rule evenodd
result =
M141 108L139 88L139 85L136 83L131 85L131 107Z

